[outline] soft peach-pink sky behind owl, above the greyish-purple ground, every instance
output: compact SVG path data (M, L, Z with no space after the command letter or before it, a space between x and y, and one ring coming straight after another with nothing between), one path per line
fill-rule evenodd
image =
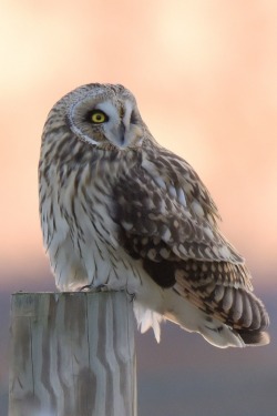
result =
M41 132L51 106L91 82L135 94L155 139L208 186L255 284L274 285L275 0L3 0L0 20L2 287L49 271L38 210Z

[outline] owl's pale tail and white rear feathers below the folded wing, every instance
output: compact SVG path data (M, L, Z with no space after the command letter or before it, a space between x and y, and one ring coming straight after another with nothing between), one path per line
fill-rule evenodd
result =
M138 329L145 333L152 327L158 343L161 323L164 319L179 325L185 331L199 333L209 344L218 348L266 345L270 341L269 335L264 331L266 325L259 328L233 327L217 316L205 313L172 288L163 291L163 303L155 306L153 311L151 302L140 302L138 297L134 301L134 315ZM264 311L261 316L263 324L267 324L268 317Z

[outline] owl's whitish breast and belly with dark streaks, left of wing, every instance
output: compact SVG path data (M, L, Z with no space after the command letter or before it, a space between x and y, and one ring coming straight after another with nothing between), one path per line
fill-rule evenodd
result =
M129 286L140 282L133 260L119 246L119 225L111 216L116 177L115 169L104 173L100 164L88 164L82 171L53 171L51 183L44 183L44 245L62 291L86 284L117 290L126 287L127 281Z

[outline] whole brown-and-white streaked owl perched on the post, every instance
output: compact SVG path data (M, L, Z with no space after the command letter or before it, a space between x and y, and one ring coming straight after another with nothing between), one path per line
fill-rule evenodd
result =
M39 197L60 291L126 291L157 341L168 319L222 348L269 342L267 312L209 192L155 141L123 85L83 85L52 108Z

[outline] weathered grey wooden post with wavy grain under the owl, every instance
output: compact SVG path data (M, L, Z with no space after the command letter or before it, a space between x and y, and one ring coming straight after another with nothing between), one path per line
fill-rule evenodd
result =
M136 416L125 292L17 293L9 416Z

